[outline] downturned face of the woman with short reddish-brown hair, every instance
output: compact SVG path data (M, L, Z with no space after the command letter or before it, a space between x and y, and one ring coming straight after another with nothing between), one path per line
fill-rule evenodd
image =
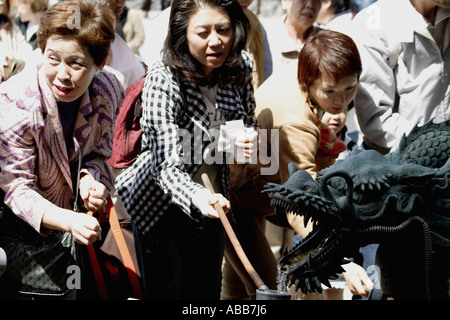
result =
M319 106L331 114L345 111L355 98L357 90L357 75L342 78L337 83L330 77L322 76L316 79L309 88Z

